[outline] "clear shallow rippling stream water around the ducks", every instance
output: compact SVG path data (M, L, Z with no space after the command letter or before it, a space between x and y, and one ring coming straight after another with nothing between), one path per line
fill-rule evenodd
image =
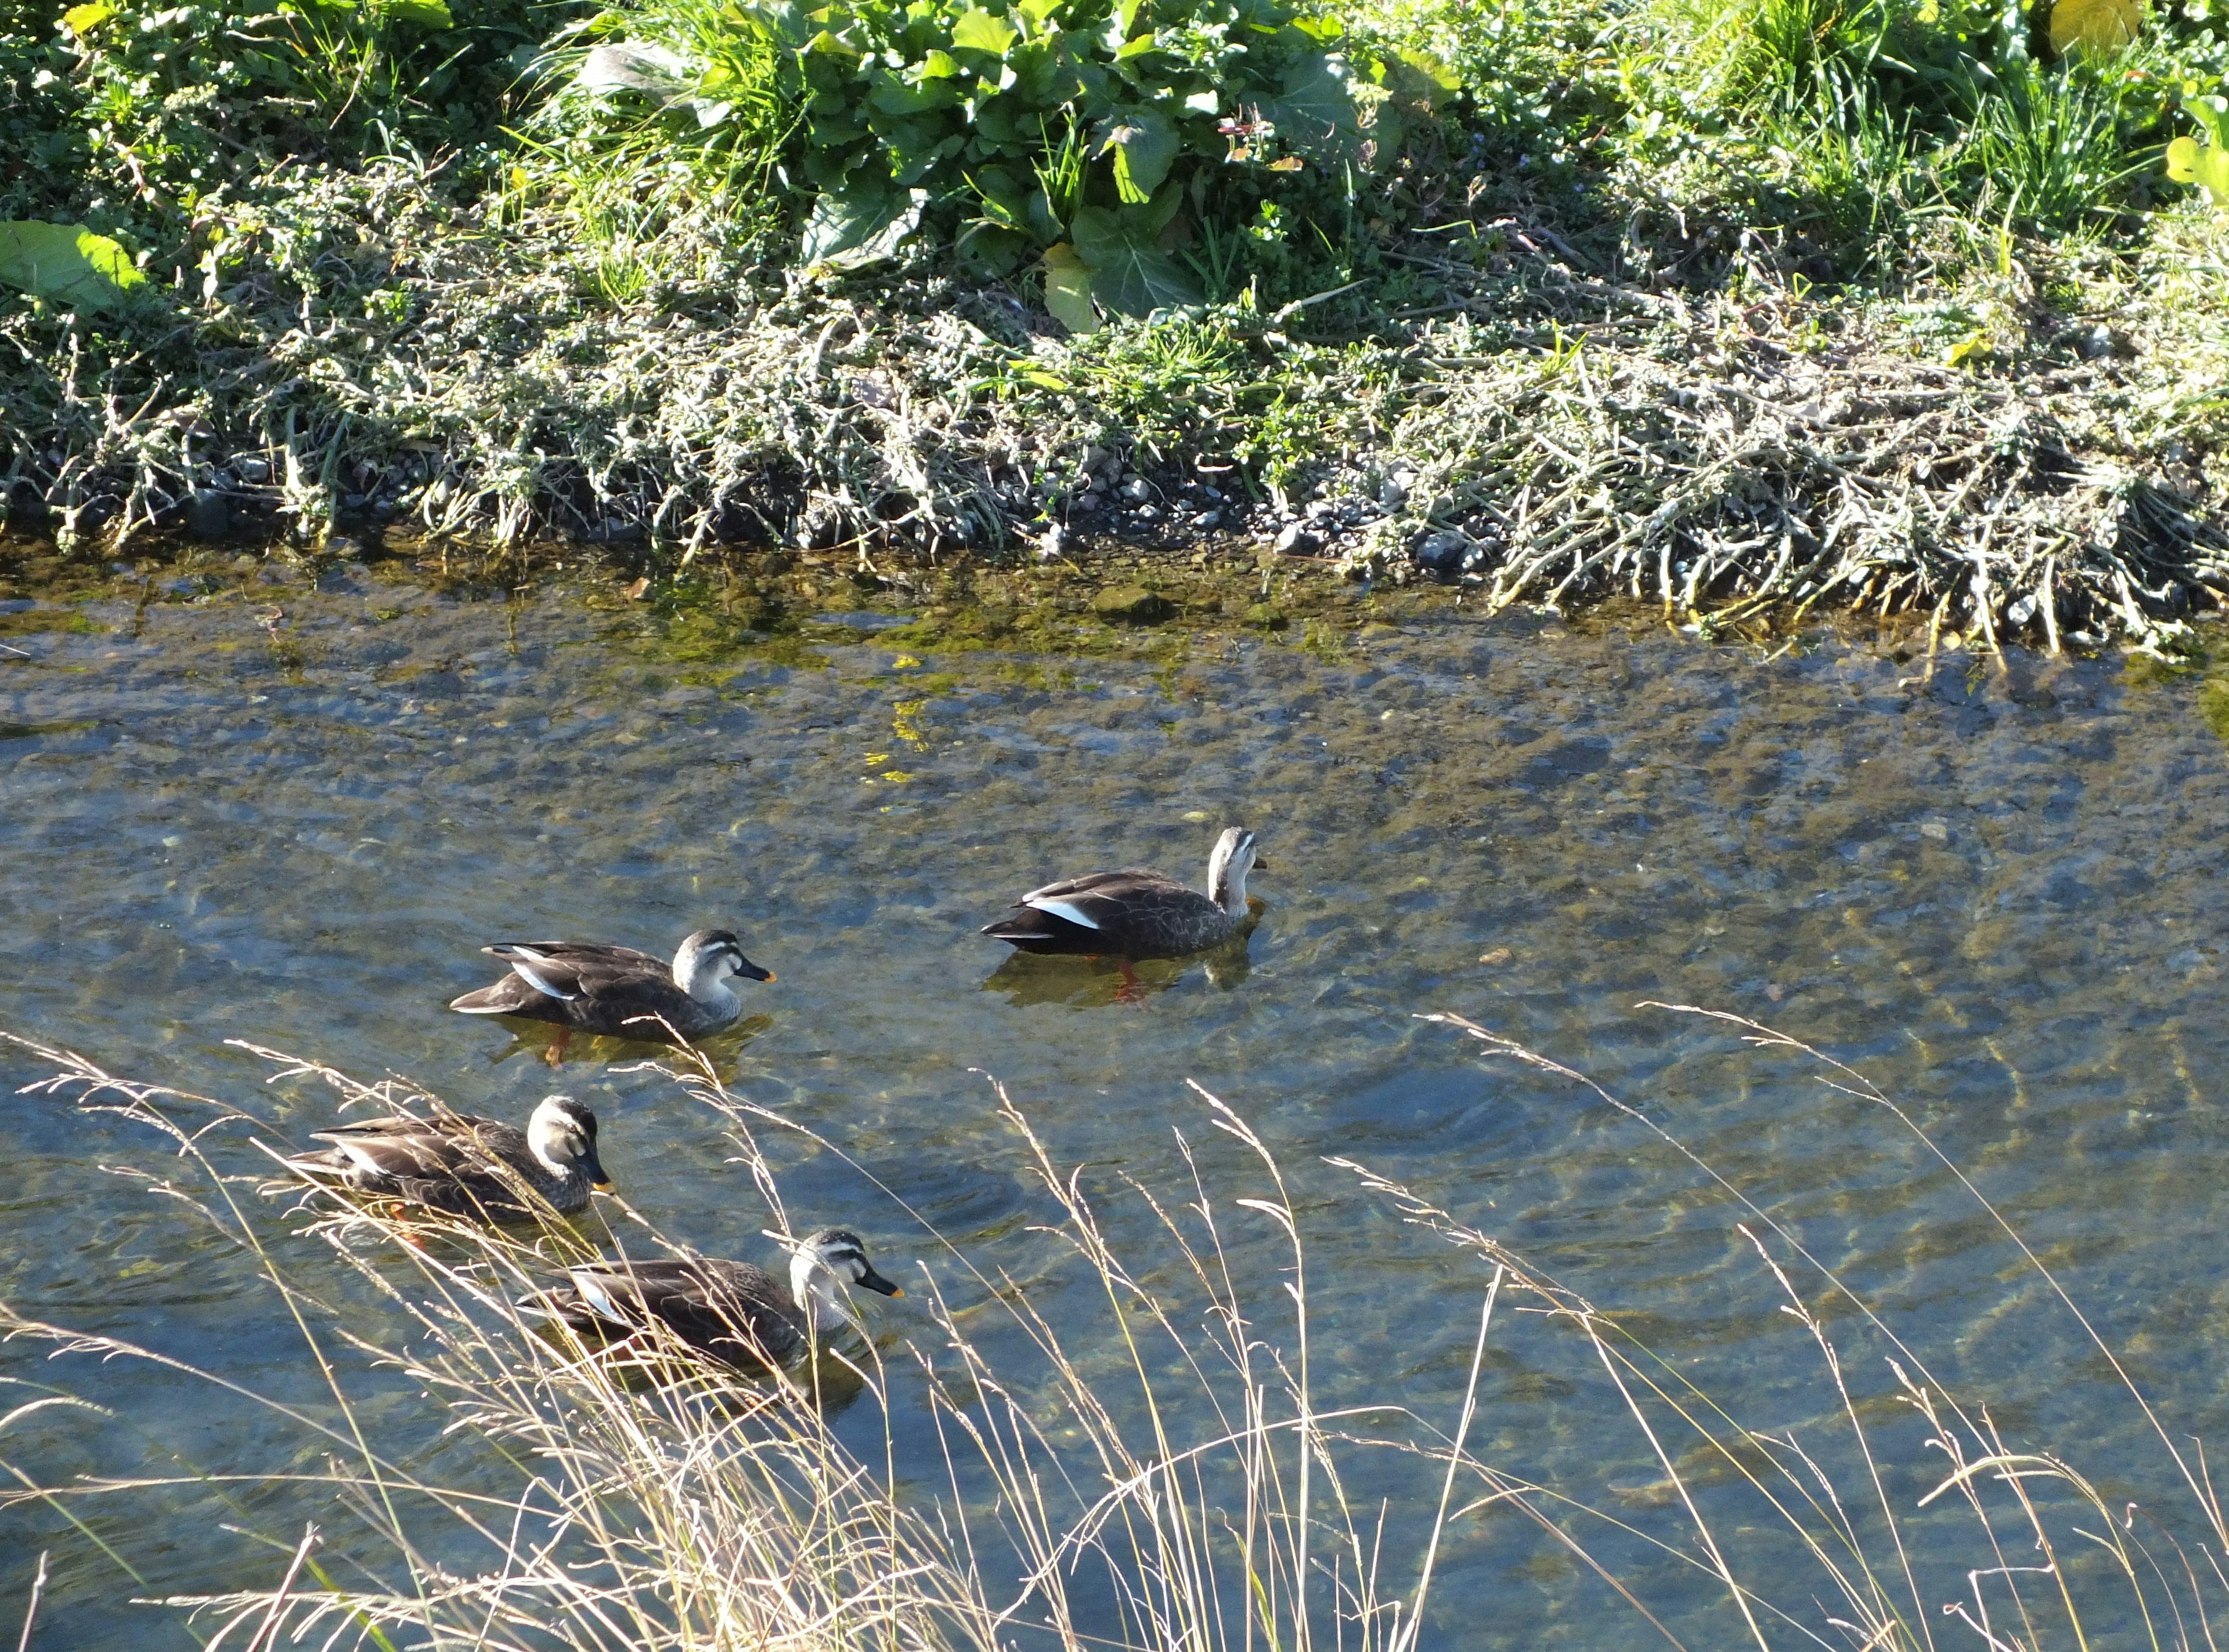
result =
M1756 1014L1859 1066L2060 1269L2169 1431L2222 1438L2229 765L2180 684L1968 655L1919 684L1917 664L1830 633L1768 660L1647 629L1447 613L1337 647L1197 633L1139 660L914 660L856 626L682 647L687 626L660 635L577 591L459 600L361 571L321 591L154 595L82 611L107 631L47 629L42 609L9 620L9 1030L236 1097L303 1135L332 1117L330 1097L265 1088L227 1039L519 1115L551 1088L542 1046L444 1010L488 979L481 943L662 950L727 923L780 974L753 990L749 1034L718 1046L736 1086L845 1144L985 1266L1028 1280L1079 1340L1097 1286L1032 1228L1048 1202L983 1072L1092 1186L1135 1175L1172 1199L1177 1130L1219 1195L1259 1193L1184 1081L1239 1108L1308 1222L1324 1405L1398 1400L1451 1425L1487 1275L1322 1162L1344 1155L1625 1313L1750 1422L1832 1451L1839 1402L1736 1233L1741 1208L1589 1092L1413 1019L1456 1010L1645 1104L1962 1398L2191 1536L2164 1451L2080 1327L1895 1119L1788 1055L1638 1008ZM1250 825L1268 858L1246 968L1148 968L1146 997L1123 1001L1110 968L1016 961L976 936L1054 874L1197 876L1226 823ZM765 1260L765 1211L724 1164L718 1119L615 1072L617 1055L640 1050L577 1050L564 1072L604 1119L611 1173L671 1231ZM40 1072L0 1050L9 1090ZM860 1228L901 1277L934 1262L840 1155L773 1146L800 1219ZM18 1311L319 1405L252 1260L111 1173L163 1168L145 1133L11 1095L0 1166L0 1298ZM1106 1215L1148 1277L1175 1275L1135 1199L1108 1195ZM1275 1233L1224 1217L1275 1329ZM314 1266L312 1242L276 1211L270 1224ZM1881 1347L1803 1289L1908 1512L1939 1458L1886 1400ZM912 1302L880 1329L894 1347L929 1333ZM314 1460L254 1407L140 1364L16 1342L0 1376L116 1413L0 1431L0 1458L45 1480ZM415 1427L412 1393L381 1373L357 1389L374 1418ZM896 1429L927 1478L934 1445L907 1398ZM843 1427L878 1438L880 1422ZM1471 1445L1687 1541L1569 1338L1496 1331ZM1413 1462L1382 1462L1351 1489L1413 1512L1420 1487L1435 1491ZM285 1543L299 1532L301 1507L276 1491L232 1512L192 1491L87 1505L140 1567L134 1585L53 1509L0 1507L0 1621L51 1549L36 1645L189 1645L174 1616L129 1598L247 1576L259 1552L216 1525L263 1516ZM1674 1621L1739 1630L1707 1578L1589 1532ZM1973 1563L1921 1556L1928 1612L1964 1596ZM1821 1625L1801 1556L1759 1565L1759 1587ZM1645 1630L1507 1514L1458 1520L1433 1601L1435 1623L1473 1645L1623 1648ZM2093 1645L2140 1634L2133 1607L2091 1627Z

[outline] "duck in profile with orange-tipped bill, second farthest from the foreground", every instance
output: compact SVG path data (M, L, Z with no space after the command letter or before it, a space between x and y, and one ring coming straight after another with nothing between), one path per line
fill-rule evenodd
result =
M573 1032L687 1043L720 1032L742 1014L733 981L771 981L742 956L733 930L698 930L664 965L649 952L600 941L497 941L481 952L510 974L448 1008L461 1014L519 1014L557 1026L548 1063L564 1061Z

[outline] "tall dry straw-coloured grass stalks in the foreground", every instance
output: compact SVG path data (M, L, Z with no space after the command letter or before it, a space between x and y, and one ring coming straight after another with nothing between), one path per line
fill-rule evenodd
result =
M332 1206L301 1206L288 1224L250 1193L267 1175L252 1115L27 1048L56 1068L36 1088L125 1112L183 1162L156 1186L259 1260L330 1384L330 1409L272 1407L270 1418L319 1449L325 1467L308 1476L308 1496L325 1503L330 1529L267 1529L250 1465L185 1483L261 1538L239 1576L169 1601L210 1645L1409 1652L1462 1621L1447 1616L1435 1578L1507 1554L1513 1534L1556 1610L1629 1645L2213 1645L2229 1529L2200 1447L2151 1409L2046 1262L1890 1097L1785 1034L1703 1017L1799 1057L1826 1097L1917 1137L2011 1242L2019 1273L2044 1284L2044 1306L2028 1311L2080 1324L2155 1438L2155 1462L2082 1465L2011 1438L1979 1396L1937 1378L1935 1349L1897 1331L1763 1195L1696 1159L1652 1110L1460 1017L1429 1019L1487 1059L1605 1104L1727 1202L1754 1255L1741 1289L1781 1302L1788 1335L1814 1351L1801 1396L1810 1422L1745 1422L1743 1411L1785 1409L1785 1396L1743 1393L1739 1360L1734 1387L1705 1391L1692 1360L1641 1335L1645 1302L1596 1302L1362 1164L1328 1162L1349 1177L1331 1206L1300 1195L1273 1146L1204 1090L1193 1099L1206 1139L1184 1141L1190 1179L1172 1188L1063 1164L1001 1092L1016 1162L1048 1213L1032 1273L985 1273L936 1242L909 1280L925 1286L925 1335L903 1349L843 1338L785 1382L742 1387L658 1353L613 1369L544 1338L515 1302L588 1244L586 1231L419 1228L397 1244L390 1224ZM323 1079L343 1104L395 1099L261 1055L288 1077ZM791 1126L704 1070L678 1066L671 1081L724 1119L771 1224L789 1231L765 1144ZM637 1255L671 1244L640 1211L611 1208L617 1219L595 1244ZM1464 1327L1444 1411L1400 1393L1326 1400L1315 1349L1344 1333L1317 1304L1308 1260L1326 1208L1411 1224L1460 1260L1464 1284L1411 1309ZM1117 1242L1117 1228L1132 1237ZM368 1286L361 1300L377 1313L332 1313L334 1266ZM1059 1324L1036 1306L1052 1300L1065 1302ZM125 1338L22 1315L7 1324L76 1353L160 1358L187 1389L212 1380ZM1944 1349L1959 1331L1926 1329ZM1859 1347L1886 1358L1850 1362ZM419 1393L452 1442L444 1456L374 1438L354 1391L377 1367ZM1556 1373L1556 1384L1522 1400L1500 1376L1509 1369ZM880 1422L847 1429L851 1445L836 1427L847 1396L865 1396ZM1587 1429L1603 1483L1529 1469L1516 1407ZM934 1440L938 1480L901 1471L923 1440ZM470 1445L470 1487L421 1471L455 1462L455 1442ZM156 1489L42 1487L22 1462L9 1467L27 1489L0 1507L42 1500L89 1541L96 1503L129 1509ZM1652 1483L1618 1485L1636 1467ZM2173 1500L2138 1516L2124 1487L2151 1483L2173 1487ZM263 1583L250 1583L256 1572ZM1480 1601L1456 1610L1476 1614Z

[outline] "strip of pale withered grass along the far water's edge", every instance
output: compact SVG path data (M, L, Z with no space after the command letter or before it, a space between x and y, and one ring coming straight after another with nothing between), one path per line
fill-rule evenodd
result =
M1803 297L1763 254L1712 292L1620 285L1505 221L1460 256L1389 252L1373 290L1409 297L1344 299L1364 314L1320 337L1331 308L1295 305L1070 343L932 268L765 265L718 216L617 281L548 203L497 198L486 234L446 212L379 161L241 225L239 279L167 299L158 339L11 314L0 497L94 551L201 497L312 551L345 519L872 566L1016 555L1054 524L1184 542L1179 493L1213 475L1221 533L1313 502L1351 573L1422 566L1493 606L1872 609L2171 653L2229 593L2225 230L2196 214L2138 261L2004 239L1901 305ZM1157 524L1079 508L1117 461L1155 479Z

